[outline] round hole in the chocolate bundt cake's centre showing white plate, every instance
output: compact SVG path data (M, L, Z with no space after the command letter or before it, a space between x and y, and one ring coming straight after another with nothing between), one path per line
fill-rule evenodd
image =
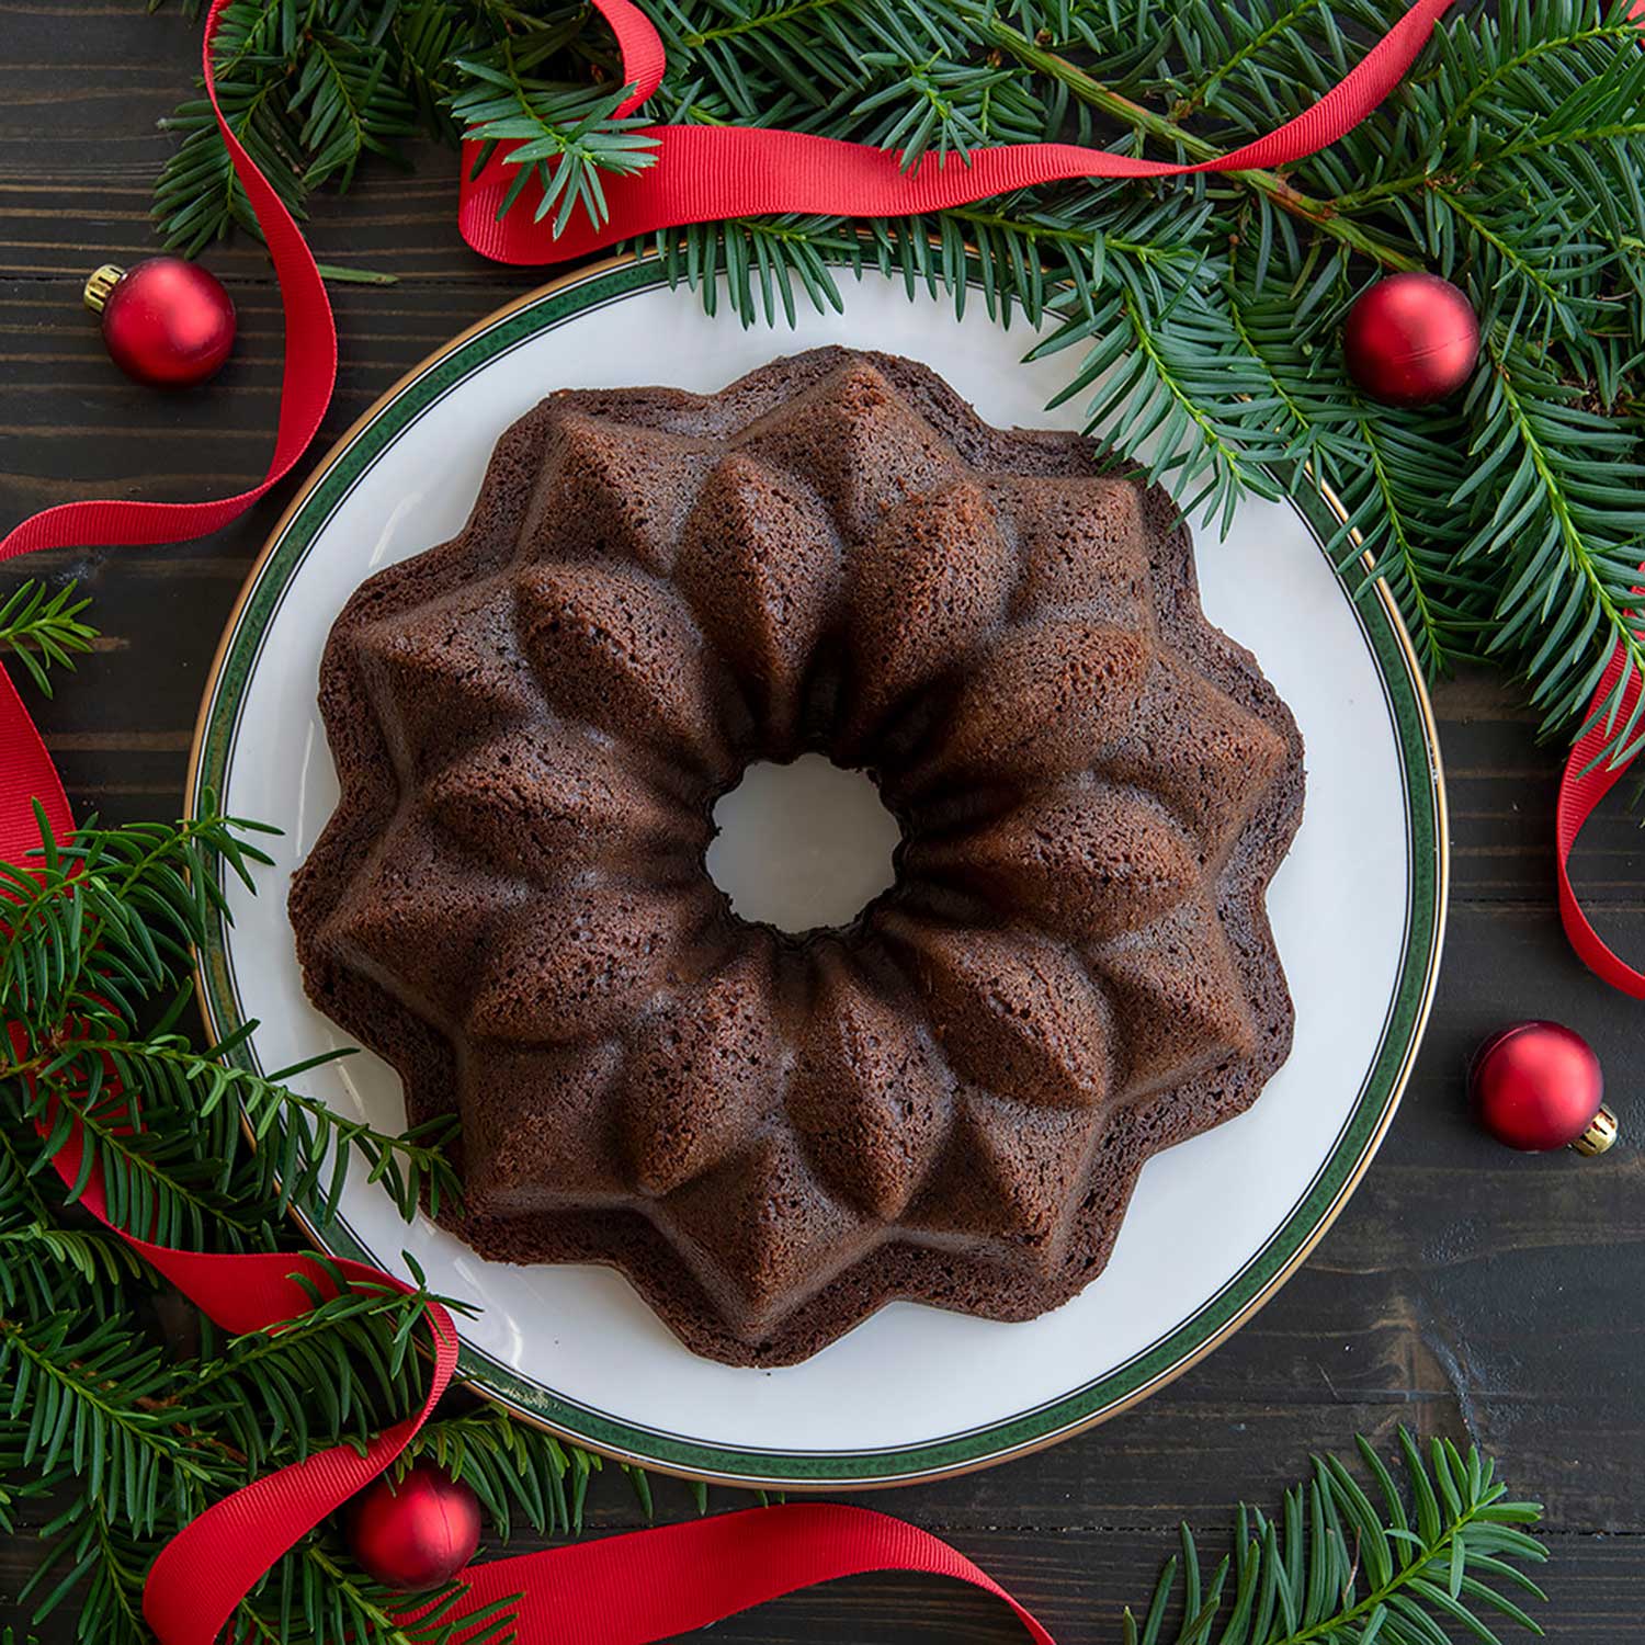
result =
M780 931L850 924L897 873L901 831L862 772L758 760L714 806L707 865L732 913Z

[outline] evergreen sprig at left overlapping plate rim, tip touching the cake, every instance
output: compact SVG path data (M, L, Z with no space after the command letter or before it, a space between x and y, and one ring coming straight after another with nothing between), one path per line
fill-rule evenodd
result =
M0 933L0 990L13 1054L0 1064L0 1107L38 1127L48 1158L76 1142L76 1198L100 1170L117 1226L171 1244L197 1242L207 1224L245 1232L230 1181L242 1158L262 1196L283 1214L324 1179L334 1214L350 1155L405 1217L419 1202L459 1194L439 1143L449 1120L393 1135L334 1114L290 1081L329 1058L265 1074L230 1061L255 1025L201 1053L176 1023L191 1003L189 951L225 910L217 869L250 883L266 855L255 824L219 813L176 829L95 819L59 844L41 813L38 860L0 864L15 893ZM163 1000L156 1022L137 1020ZM141 1114L143 1125L132 1115ZM258 1143L245 1153L242 1124ZM275 1132L278 1127L278 1138ZM243 1193L245 1181L235 1181Z

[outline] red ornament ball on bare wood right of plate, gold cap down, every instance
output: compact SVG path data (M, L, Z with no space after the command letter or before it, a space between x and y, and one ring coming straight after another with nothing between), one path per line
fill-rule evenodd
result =
M1494 1033L1474 1053L1467 1089L1480 1124L1510 1148L1541 1153L1569 1143L1592 1155L1617 1140L1599 1058L1559 1023L1515 1023Z

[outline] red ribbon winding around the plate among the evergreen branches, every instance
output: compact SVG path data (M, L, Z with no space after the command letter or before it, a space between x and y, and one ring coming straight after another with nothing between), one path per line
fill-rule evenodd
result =
M663 76L663 44L630 0L594 0L622 48L633 86L622 105L632 114ZM724 127L653 127L656 163L607 184L610 220L604 229L574 224L559 240L546 225L513 212L497 222L510 181L498 150L480 178L462 189L459 225L469 243L510 263L556 262L633 235L686 222L758 212L822 212L850 217L905 215L966 204L1010 189L1069 178L1166 178L1194 171L1283 166L1314 153L1357 125L1398 84L1451 0L1416 0L1365 59L1324 97L1277 132L1221 160L1193 166L1137 160L1066 143L985 148L971 163L926 161L911 173L895 155L791 132ZM275 452L265 479L237 497L204 503L84 502L25 520L0 541L0 559L35 549L82 544L145 544L201 536L243 513L293 467L313 439L331 400L337 339L326 288L291 215L252 164L217 107L211 46L227 0L212 0L204 33L206 89L217 110L235 173L268 242L285 306L286 349ZM530 192L530 191L528 191ZM1614 665L1620 668L1620 661ZM1614 681L1615 674L1607 676ZM1633 696L1638 681L1630 686ZM1630 696L1629 702L1632 704ZM1625 712L1625 711L1624 711ZM1584 744L1586 747L1586 744ZM1573 755L1579 768L1582 748ZM39 799L59 837L72 832L61 778L10 679L0 671L0 855L16 862L38 842L31 801ZM1619 987L1645 994L1645 979L1599 943L1576 911L1564 854L1582 819L1619 773L1573 778L1561 795L1561 908L1573 941L1589 964L1609 959L1625 975ZM1586 933L1581 938L1579 933ZM1604 972L1602 972L1604 974ZM79 1166L71 1143L56 1165L64 1181ZM82 1204L105 1217L102 1183L87 1184ZM123 1235L156 1270L224 1329L270 1329L308 1308L294 1275L326 1288L317 1263L286 1255L207 1255L173 1250ZM405 1291L398 1280L359 1263L339 1263L362 1286ZM349 1446L317 1453L255 1480L207 1508L161 1550L148 1576L143 1610L163 1645L211 1645L235 1604L306 1531L380 1474L418 1431L444 1393L457 1357L457 1332L444 1308L428 1309L434 1347L428 1395L416 1415L385 1430L367 1451ZM975 1564L946 1543L864 1508L806 1504L755 1508L689 1525L638 1531L551 1553L477 1564L464 1573L475 1604L521 1594L521 1645L650 1645L702 1627L748 1606L813 1582L860 1571L923 1571L971 1582L1003 1599L1036 1645L1051 1635Z

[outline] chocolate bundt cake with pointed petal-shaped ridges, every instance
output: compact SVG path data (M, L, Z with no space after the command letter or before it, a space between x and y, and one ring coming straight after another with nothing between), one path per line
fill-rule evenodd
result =
M1054 1308L1142 1163L1288 1053L1291 716L1165 495L910 360L551 395L462 535L349 600L321 707L309 995L411 1120L461 1114L462 1239L610 1263L701 1354ZM852 924L790 934L704 850L809 750L903 837Z

